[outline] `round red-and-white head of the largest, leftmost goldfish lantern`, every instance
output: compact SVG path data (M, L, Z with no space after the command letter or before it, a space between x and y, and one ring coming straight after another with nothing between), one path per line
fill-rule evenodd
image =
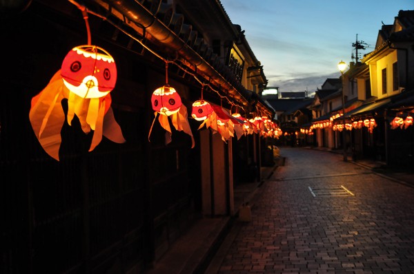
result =
M66 87L81 98L101 98L114 89L117 67L103 48L79 45L63 59L61 76Z

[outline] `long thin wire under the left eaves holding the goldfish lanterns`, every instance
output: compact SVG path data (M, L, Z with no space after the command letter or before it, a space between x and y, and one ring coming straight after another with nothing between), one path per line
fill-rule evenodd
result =
M185 67L182 67L181 65L179 65L179 63L177 63L176 61L168 61L167 59L165 59L163 56L161 56L161 55L159 55L159 54L157 54L156 52L154 52L153 50L151 50L149 47L148 47L148 45L146 45L145 43L143 43L140 39L137 39L137 37L135 37L135 36L133 36L132 34L130 34L129 32L127 32L126 30L124 30L124 29L122 29L122 28L120 28L119 27L119 25L117 25L116 23L114 23L114 22L112 22L112 21L110 21L106 16L103 16L103 15L101 15L101 14L99 14L99 13L97 13L97 12L93 12L92 10L88 10L85 6L82 6L81 4L79 4L79 3L77 3L77 1L75 1L75 0L68 0L68 1L70 1L70 3L72 3L72 4L74 4L75 6L77 6L77 8L79 8L79 10L81 10L81 11L85 11L86 13L89 13L89 14L92 14L92 15L95 15L96 17L99 17L99 18L101 18L101 19L103 19L103 20L105 20L105 21L107 21L108 23L110 23L110 25L112 25L113 27L115 27L115 28L117 28L118 30L120 30L121 32L123 32L124 34L126 34L127 36L129 36L131 39L133 39L133 40L135 40L135 41L137 41L143 48L145 48L146 50L148 50L149 52L151 52L152 54L154 54L155 56L157 56L159 59L161 59L162 61L164 61L164 62L166 62L166 63L173 63L174 65L177 65L177 67L179 67L179 69L181 69L183 72L185 72L185 73L187 73L187 74L190 74L191 76L193 76L193 78L195 78L195 80L197 81L197 82L199 82L200 83L200 85L206 85L207 87L209 87L213 92L215 92L215 93L217 93L217 95L220 97L220 101L221 101L221 99L223 99L223 98L225 98L226 99L226 101L228 101L228 103L230 104L230 105L234 105L234 106L237 106L237 107L240 107L241 109L243 109L243 110L245 110L244 109L244 107L242 106L242 105L239 105L239 104L237 104L237 103L234 103L234 101L233 100L235 100L234 98L232 98L232 100L230 100L230 98L228 97L228 96L222 96L221 94L220 94L220 92L217 90L217 89L215 89L214 87L213 87L213 85L210 85L210 83L208 83L208 84L204 84L204 83L202 83L202 81L200 81L199 80L199 78L194 74L194 73L192 73L192 72L189 72ZM83 18L85 19L85 16L83 16ZM88 19L88 17L86 16L86 19ZM141 26L141 28L143 28L143 32L145 33L145 27L144 26ZM89 24L87 25L87 31L88 32L90 32L90 30L89 30ZM90 37L90 34L88 34L88 37ZM90 38L88 38L88 40L89 40ZM197 69L195 70L195 71L197 71Z

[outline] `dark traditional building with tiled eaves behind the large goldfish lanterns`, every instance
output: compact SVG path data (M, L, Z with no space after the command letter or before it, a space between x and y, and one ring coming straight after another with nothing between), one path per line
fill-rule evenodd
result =
M263 67L219 1L8 3L0 7L8 11L0 27L8 45L0 172L9 178L0 191L1 273L144 273L200 218L235 213L233 189L260 180L266 137L232 132L229 122L227 131L201 127L193 103L246 119L274 112L259 98ZM93 51L95 62L117 67L93 70L88 91L99 72L103 82L117 76L116 84L111 97L86 108L52 78L66 77L63 60L79 45L106 50ZM73 61L69 73L82 67ZM163 118L167 103L155 110L161 99L152 96L166 84L179 95L168 88L168 104L182 105ZM33 120L41 111L44 118ZM59 127L50 128L52 120Z

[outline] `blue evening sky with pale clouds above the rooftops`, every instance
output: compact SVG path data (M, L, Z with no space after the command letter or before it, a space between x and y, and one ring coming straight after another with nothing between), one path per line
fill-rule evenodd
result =
M315 92L338 78L337 63L353 61L356 35L375 48L382 22L394 23L414 0L220 0L230 20L241 25L268 87L279 92Z

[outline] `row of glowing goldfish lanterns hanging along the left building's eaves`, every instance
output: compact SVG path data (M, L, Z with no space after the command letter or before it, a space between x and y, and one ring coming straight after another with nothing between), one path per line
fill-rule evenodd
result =
M113 57L103 48L90 43L90 28L86 8L78 6L83 13L88 33L88 44L72 48L63 59L61 69L50 79L46 87L32 98L29 118L34 134L43 149L55 160L59 160L61 145L61 128L67 120L72 125L75 116L79 118L81 129L85 134L94 131L89 151L92 151L106 136L115 143L124 143L121 128L117 124L110 107L112 99L110 92L117 81L117 66ZM152 122L148 140L155 120L158 117L161 127L166 129L170 143L171 124L177 131L190 135L192 146L195 141L188 123L186 106L181 97L168 85L168 61L166 61L166 84L155 89L151 96L152 109L155 118ZM204 85L203 85L204 87ZM68 112L65 115L61 101L68 100ZM230 137L240 138L243 134L257 133L260 136L278 138L282 131L266 117L257 116L247 120L241 115L229 114L224 108L201 100L193 103L191 117L203 121L199 127L213 129L219 132L222 140Z

